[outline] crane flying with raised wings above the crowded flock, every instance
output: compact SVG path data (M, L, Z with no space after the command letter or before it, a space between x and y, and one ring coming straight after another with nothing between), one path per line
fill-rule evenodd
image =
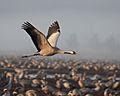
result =
M55 54L76 54L75 51L65 51L56 47L58 37L60 36L60 26L58 21L55 21L50 25L46 37L41 31L39 31L29 22L24 22L22 24L22 29L24 29L29 34L35 47L37 48L37 52L34 54L22 57L31 57L36 55L52 56Z

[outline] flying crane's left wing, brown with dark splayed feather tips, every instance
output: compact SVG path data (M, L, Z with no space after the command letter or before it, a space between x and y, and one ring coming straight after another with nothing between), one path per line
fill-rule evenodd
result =
M38 52L43 48L51 47L45 35L39 30L37 30L29 22L24 22L24 24L22 25L22 29L24 29L29 34Z

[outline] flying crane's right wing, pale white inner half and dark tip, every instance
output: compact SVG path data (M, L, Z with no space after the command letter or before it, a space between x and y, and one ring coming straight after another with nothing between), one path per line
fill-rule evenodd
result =
M58 37L60 36L60 27L57 21L52 23L48 29L47 40L52 47L56 47Z

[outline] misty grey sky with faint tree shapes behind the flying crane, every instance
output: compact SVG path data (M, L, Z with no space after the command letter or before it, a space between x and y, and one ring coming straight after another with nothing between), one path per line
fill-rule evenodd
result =
M55 20L61 26L60 48L81 57L120 57L120 0L0 0L0 52L35 52L22 23L47 34Z

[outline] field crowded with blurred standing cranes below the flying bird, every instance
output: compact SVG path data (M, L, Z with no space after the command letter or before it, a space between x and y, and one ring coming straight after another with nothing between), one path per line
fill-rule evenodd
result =
M0 57L0 96L120 96L120 62Z

